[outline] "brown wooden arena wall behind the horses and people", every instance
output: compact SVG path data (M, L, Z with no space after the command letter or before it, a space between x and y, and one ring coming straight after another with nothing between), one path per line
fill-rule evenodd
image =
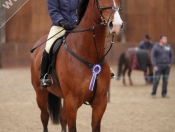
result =
M161 34L168 36L175 51L174 0L125 0L126 43L116 43L108 55L111 64L116 64L121 52L136 47L150 34L157 42ZM2 66L23 67L30 65L30 49L34 43L49 32L51 21L46 0L29 0L7 23L6 42L2 45ZM106 48L110 39L107 39Z

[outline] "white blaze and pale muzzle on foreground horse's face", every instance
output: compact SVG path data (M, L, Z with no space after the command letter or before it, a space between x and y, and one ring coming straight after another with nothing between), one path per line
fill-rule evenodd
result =
M113 20L112 23L113 23L113 28L111 29L110 33L118 34L120 32L120 28L121 28L121 26L123 24L123 21L122 21L118 11L115 12L114 20Z

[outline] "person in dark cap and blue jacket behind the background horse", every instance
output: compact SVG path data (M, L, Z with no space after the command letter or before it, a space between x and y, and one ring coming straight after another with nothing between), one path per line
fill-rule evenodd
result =
M145 35L145 40L141 41L139 44L139 49L151 50L153 48L153 43L151 42L150 36Z

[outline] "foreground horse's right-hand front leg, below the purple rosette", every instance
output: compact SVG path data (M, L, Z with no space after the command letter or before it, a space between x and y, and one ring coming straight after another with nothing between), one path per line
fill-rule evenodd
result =
M96 97L97 98L97 97ZM106 110L107 106L107 94L101 97L101 100L98 99L98 102L95 102L92 106L92 132L100 132L101 119Z

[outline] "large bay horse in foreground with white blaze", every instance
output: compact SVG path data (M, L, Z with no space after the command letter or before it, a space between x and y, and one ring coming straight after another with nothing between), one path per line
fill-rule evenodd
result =
M106 27L111 34L119 34L123 27L119 7L119 0L89 0L82 20L74 29L77 32L70 33L65 40L69 49L91 64L100 64L105 54ZM39 39L34 47L45 42L46 39L47 35ZM60 87L54 81L51 87L42 90L39 82L39 66L44 48L45 44L31 54L31 82L36 91L37 104L41 110L43 130L48 132L47 126L50 116L53 123L58 124L60 121L62 132L67 131L67 125L69 132L76 132L77 110L86 101L90 102L94 95L94 91L89 90L93 75L92 69L71 55L62 44L57 54L55 66ZM104 61L101 72L98 74L96 94L93 102L90 103L92 107L92 132L100 132L101 120L107 106L109 84L110 68L108 62ZM61 99L63 99L63 104L61 104Z

